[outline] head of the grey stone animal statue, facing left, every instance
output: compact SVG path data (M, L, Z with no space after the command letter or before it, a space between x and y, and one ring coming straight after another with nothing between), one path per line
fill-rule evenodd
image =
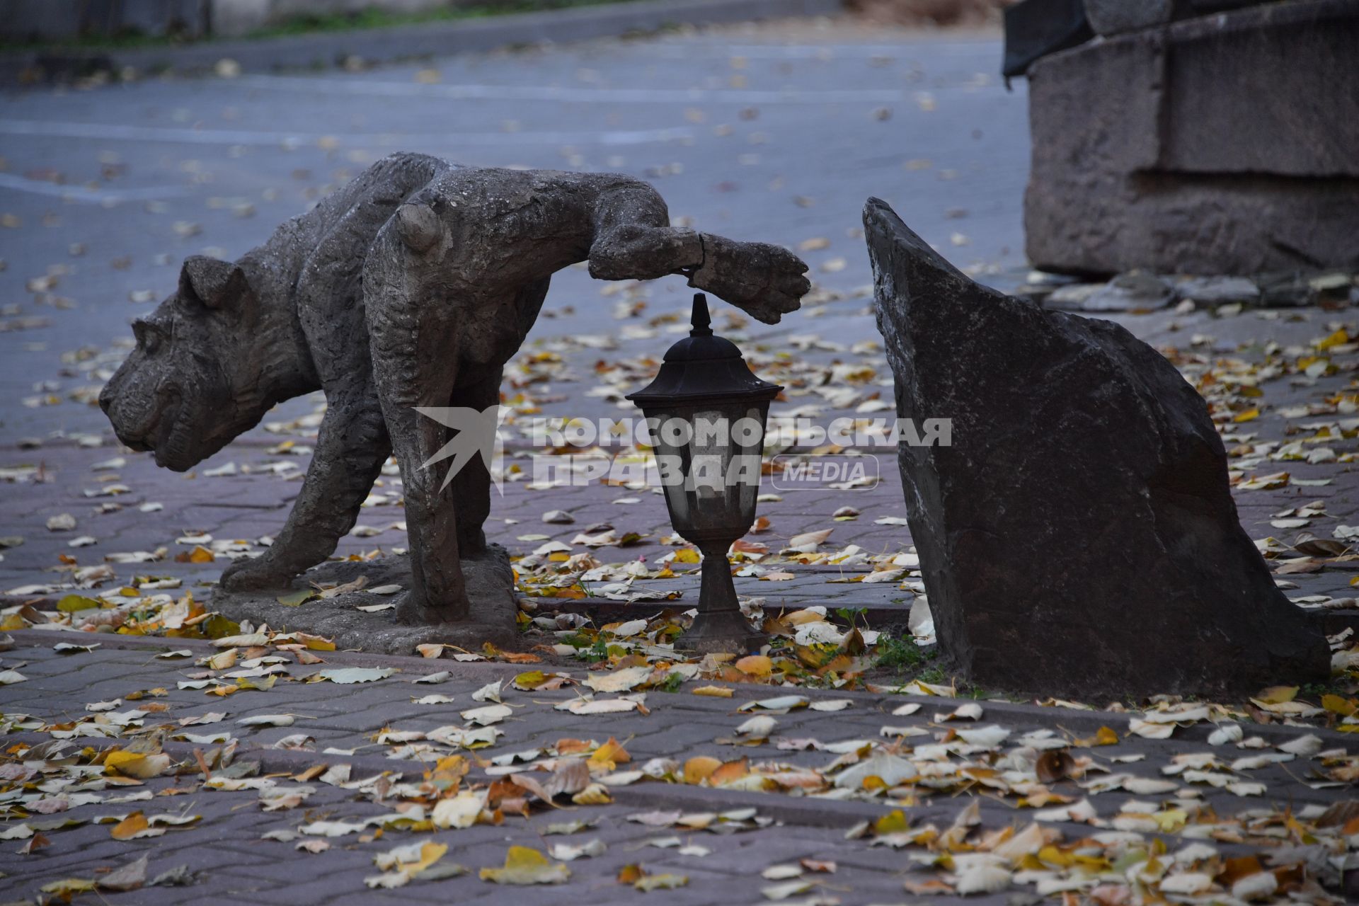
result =
M185 471L260 422L260 300L238 265L193 255L179 288L132 325L137 345L99 394L118 440Z

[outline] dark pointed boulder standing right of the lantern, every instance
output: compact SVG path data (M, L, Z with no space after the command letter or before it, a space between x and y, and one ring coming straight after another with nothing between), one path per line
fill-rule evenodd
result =
M1325 638L1241 530L1204 401L1123 327L972 283L864 211L898 451L940 649L974 682L1091 695L1328 675ZM1041 651L1042 656L1033 652Z

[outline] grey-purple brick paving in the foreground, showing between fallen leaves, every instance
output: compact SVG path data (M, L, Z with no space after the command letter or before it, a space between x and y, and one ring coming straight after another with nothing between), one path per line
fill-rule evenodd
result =
M985 830L1023 826L1029 822L1029 816L1036 814L1031 807L1029 814L1025 814L1025 810L1017 812L1014 800L1007 801L999 795L984 795L987 791L981 785L962 791L981 793L976 797L949 792L930 795L927 786L919 786L906 799L896 800L883 796L847 799L843 793L848 791L843 789L836 795L813 797L646 781L613 786L614 801L609 805L567 804L556 810L540 805L530 818L507 815L499 826L477 825L462 830L432 833L391 829L378 839L360 838L360 834L355 833L332 838L328 850L308 854L295 849L294 841L264 839L262 835L279 830L296 831L313 822L359 822L391 814L393 805L400 800L393 796L382 803L371 801L352 789L314 778L304 784L292 784L287 780L288 776L317 765L349 765L349 777L353 780L383 774L389 782L395 784L397 774L402 774L406 780L419 778L429 769L434 759L453 750L429 744L427 753L413 758L400 758L397 755L405 746L375 744L375 736L383 731L425 733L439 727L461 724L458 713L477 706L472 697L477 689L495 681L510 681L522 668L337 652L325 655L325 664L314 667L291 664L288 675L268 691L239 691L227 698L216 698L201 690L177 689L178 681L194 672L192 659L167 662L155 656L182 648L190 649L196 656L211 653L213 648L204 641L106 636L77 640L99 641L101 645L94 651L58 653L53 645L69 640L72 637L69 633L23 630L15 633L15 637L16 647L5 653L5 664L18 664L27 679L4 687L7 721L20 720L19 714L31 714L45 721L50 731L53 727L69 727L69 721L87 717L83 713L84 702L124 698L124 708L155 702L164 709L143 714L141 729L151 732L162 727L167 739L166 751L175 761L182 759L183 767L179 776L148 780L144 786L103 788L102 782L95 780L86 784L86 788L106 801L57 812L61 818L82 819L87 823L48 831L50 845L23 857L12 854L18 842L7 842L7 853L0 858L0 871L8 873L4 883L12 896L31 896L42 884L61 877L98 877L103 867L117 868L141 854L148 854L148 877L177 865L188 865L196 872L196 883L190 887L155 887L126 894L105 892L102 896L109 902L126 903L434 903L477 899L500 902L511 896L514 902L529 903L556 902L561 896L584 902L622 903L637 902L641 895L620 884L616 875L625 865L640 864L651 875L677 873L688 877L685 887L655 891L648 894L648 898L684 903L756 903L764 899L762 888L773 886L760 876L761 871L771 865L807 858L833 861L837 864L837 871L828 875L805 875L803 879L810 887L798 895L796 902L897 903L911 899L904 894L904 882L923 882L934 872L912 863L896 849L871 846L867 839L847 839L847 830L859 822L872 822L890 814L894 807L904 807L912 826L923 827L934 823L943 829L953 823L962 807L973 801L980 805L980 826ZM356 686L302 682L322 668L375 664L391 667L395 672L386 679ZM438 685L412 685L412 681L436 671L447 671L451 676ZM578 679L586 676L584 670L571 672ZM164 694L139 702L126 700L129 693L156 687L163 689ZM493 746L476 751L478 766L469 774L467 782L484 784L493 780L485 773L491 766L491 758L523 753L525 759L533 759L540 755L538 750L556 746L564 738L593 739L597 743L616 738L632 757L632 763L621 767L635 767L652 758L674 758L684 762L693 757L711 755L724 762L749 758L752 763L776 762L788 769L824 769L836 755L815 748L800 748L810 746L806 742L794 747L787 740L817 740L818 746L832 746L859 739L864 740L864 744L874 740L886 744L883 727L897 728L892 731L896 733L909 727L927 738L945 735L949 727L938 723L940 712L947 713L959 704L955 700L938 697L802 690L800 694L814 705L836 700L848 701L849 705L836 712L802 709L779 714L775 717L776 728L765 742L737 744L734 729L749 717L746 713L739 713L741 705L784 690L738 685L730 700L686 693L651 693L646 697L650 709L646 714L629 712L576 716L553 708L578 698L580 691L579 686L556 691L519 691L507 687L503 701L510 705L514 714L495 724L503 735ZM416 704L417 698L431 693L453 701L439 705ZM892 714L893 709L904 704L919 704L921 708L911 716ZM1008 729L1010 746L1033 743L1029 733L1038 733L1038 739L1045 733L1055 733L1067 740L1089 740L1102 727L1109 727L1123 735L1129 721L1127 713L1067 710L1010 702L984 702L983 708L984 714L973 723ZM205 712L226 712L226 719L204 727L181 727L178 723ZM242 727L238 723L251 716L280 713L292 714L296 723L291 727L260 729ZM235 753L238 763L258 761L260 773L275 778L280 786L289 789L307 786L311 788L311 795L296 808L266 812L261 808L265 800L254 791L223 792L201 786L197 782L201 776L192 753L208 751L212 747L173 742L179 733L200 729L230 732L239 740ZM1165 780L1162 770L1171 763L1173 757L1212 751L1205 742L1210 729L1212 724L1196 724L1178 729L1171 739L1125 736L1114 746L1094 748L1080 748L1082 743L1076 742L1076 747L1070 751L1093 759L1094 767L1087 777L1097 777L1097 772L1104 769L1147 781L1162 781ZM314 739L314 744L308 744L308 751L272 748L285 736L298 732ZM1282 725L1250 727L1249 732L1258 735L1267 748L1294 740L1303 733L1298 728ZM1352 742L1344 733L1309 732L1317 735L1325 748L1344 750ZM48 738L45 732L11 727L5 744L11 748L15 744L35 743ZM77 736L75 740L76 747L84 744L106 747L118 742L92 735ZM786 744L780 746L781 742ZM1230 747L1226 754L1218 751L1226 759L1250 754L1230 751ZM1140 757L1140 759L1128 763L1110 761L1125 757ZM1148 799L1146 793L1135 795L1125 791L1091 795L1090 801L1105 820L1116 819L1121 811L1140 812L1174 801L1185 808L1200 810L1204 815L1214 815L1214 820L1227 822L1234 816L1249 814L1250 810L1283 805L1291 807L1295 814L1316 815L1347 796L1343 785L1332 784L1318 789L1302 782L1313 774L1313 769L1301 761L1242 769L1237 774L1243 780L1264 784L1268 792L1242 796L1201 782L1181 781L1169 784L1163 789L1157 788L1161 792L1151 799L1161 801L1151 805L1144 801ZM149 791L155 799L136 803L118 801L120 796L141 789ZM171 789L174 795L166 796ZM1051 784L1051 791L1072 799L1086 795L1076 788L1075 781L1070 780ZM144 810L147 815L197 815L198 819L171 827L162 837L133 841L113 839L109 823L94 823L96 816L125 815L135 808ZM629 820L633 815L656 811L704 814L743 808L754 810L760 816L771 819L771 823L761 829L723 834L708 830L677 831L669 823L648 826ZM572 835L544 835L549 823L576 819L594 823ZM11 819L0 825L0 833L14 827L15 823ZM1067 838L1079 839L1097 833L1089 825L1057 820L1051 815L1044 823ZM680 845L701 849L681 852L671 839L667 839L674 837L680 837ZM302 835L298 839L307 837ZM372 865L374 854L410 839L447 844L446 860L467 867L473 873L438 882L421 882L417 876L409 886L397 891L364 887L364 879L378 873ZM606 850L595 858L569 863L572 877L563 890L530 887L507 891L480 880L476 875L480 868L499 867L510 845L545 850L552 844L582 844L588 839L602 841ZM1171 853L1188 845L1188 841L1178 839L1174 834L1166 834L1165 839ZM1258 842L1222 844L1224 856L1260 850ZM809 901L809 896L821 899ZM974 902L1008 901L1006 895L996 892L977 896Z

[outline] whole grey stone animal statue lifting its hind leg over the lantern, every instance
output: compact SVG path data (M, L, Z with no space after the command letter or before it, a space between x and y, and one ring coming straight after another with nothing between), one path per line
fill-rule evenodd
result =
M602 280L685 274L766 323L809 289L792 253L673 228L656 190L625 175L397 153L235 264L186 259L178 289L133 325L137 345L99 403L124 444L183 471L273 405L325 391L287 524L222 585L287 587L329 557L394 454L413 572L397 618L466 619L459 560L485 549L491 479L477 458L447 489L421 469L448 429L416 407L496 405L552 274L580 261Z

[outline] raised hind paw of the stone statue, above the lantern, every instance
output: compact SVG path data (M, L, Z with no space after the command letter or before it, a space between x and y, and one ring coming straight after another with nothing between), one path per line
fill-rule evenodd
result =
M805 276L806 262L780 246L705 234L703 247L703 266L693 272L689 285L707 289L768 325L796 311L802 296L811 289Z

